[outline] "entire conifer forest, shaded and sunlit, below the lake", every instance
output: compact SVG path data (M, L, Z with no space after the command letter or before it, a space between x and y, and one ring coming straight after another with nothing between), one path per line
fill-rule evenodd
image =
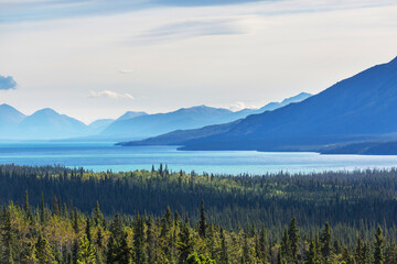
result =
M397 169L0 166L0 263L397 263Z

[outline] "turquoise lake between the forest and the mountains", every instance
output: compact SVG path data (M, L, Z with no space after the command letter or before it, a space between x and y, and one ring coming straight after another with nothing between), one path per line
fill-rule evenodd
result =
M260 175L397 166L397 156L320 155L273 152L184 152L174 146L115 146L114 143L0 143L0 164L85 167L94 172L150 169L160 163L172 170Z

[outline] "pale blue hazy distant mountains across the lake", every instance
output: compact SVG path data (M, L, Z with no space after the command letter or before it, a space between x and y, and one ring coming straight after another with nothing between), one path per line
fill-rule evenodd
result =
M174 130L196 129L210 124L235 121L266 110L280 108L303 100L310 94L302 92L282 102L271 102L260 109L244 109L233 112L222 108L198 106L182 108L167 113L148 114L128 111L118 119L100 119L86 125L77 119L46 108L25 116L8 105L0 106L1 140L58 140L82 138L117 141L143 139Z

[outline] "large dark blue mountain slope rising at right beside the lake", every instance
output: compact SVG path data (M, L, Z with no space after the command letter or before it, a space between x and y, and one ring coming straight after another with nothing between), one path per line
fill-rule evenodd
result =
M182 150L321 151L343 142L396 139L396 117L397 57L272 111L121 144L182 145Z

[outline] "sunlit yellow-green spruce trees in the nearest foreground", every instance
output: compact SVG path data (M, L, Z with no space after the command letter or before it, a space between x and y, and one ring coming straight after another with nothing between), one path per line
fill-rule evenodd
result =
M44 199L32 208L28 191L24 200L1 208L0 263L397 263L395 237L386 240L380 227L373 239L357 232L346 245L329 223L308 235L294 218L277 238L264 226L224 230L207 221L204 202L192 222L170 208L159 217L117 213L108 220L99 204L84 215L56 197L52 208Z

